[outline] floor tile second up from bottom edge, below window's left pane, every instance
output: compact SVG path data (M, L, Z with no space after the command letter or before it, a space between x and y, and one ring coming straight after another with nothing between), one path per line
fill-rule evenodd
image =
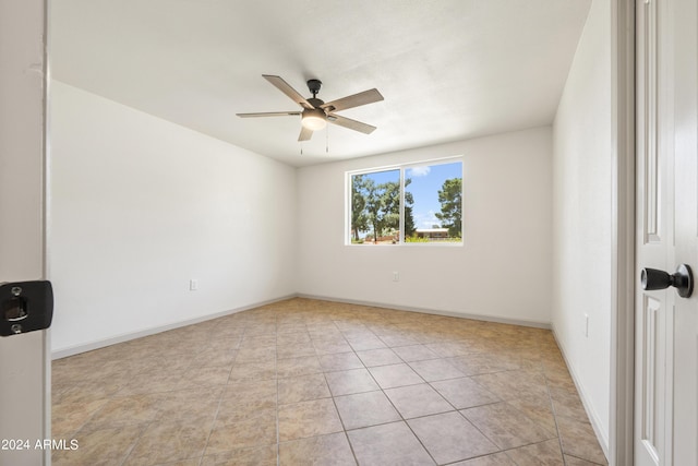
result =
M346 430L400 420L400 415L383 392L338 396L335 404Z

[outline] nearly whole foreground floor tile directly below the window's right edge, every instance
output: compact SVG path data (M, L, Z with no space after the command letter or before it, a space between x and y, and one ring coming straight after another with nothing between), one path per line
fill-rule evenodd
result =
M407 423L438 464L500 450L457 411L410 419Z

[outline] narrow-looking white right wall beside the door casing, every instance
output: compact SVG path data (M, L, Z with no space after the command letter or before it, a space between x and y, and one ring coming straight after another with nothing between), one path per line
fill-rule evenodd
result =
M594 0L553 129L553 328L609 444L611 8ZM585 336L585 314L589 336ZM605 443L605 444L604 444Z

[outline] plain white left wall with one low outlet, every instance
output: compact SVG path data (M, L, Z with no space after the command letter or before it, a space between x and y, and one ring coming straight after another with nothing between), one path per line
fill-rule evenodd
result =
M50 144L55 353L296 291L291 167L56 81Z

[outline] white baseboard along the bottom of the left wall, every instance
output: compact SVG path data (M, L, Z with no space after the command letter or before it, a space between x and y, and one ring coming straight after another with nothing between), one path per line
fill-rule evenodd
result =
M222 316L234 314L234 313L242 312L242 311L249 311L250 309L258 308L261 306L272 304L274 302L284 301L286 299L290 299L290 298L294 298L294 297L296 297L296 295L288 295L288 296L284 296L284 297L280 297L280 298L275 298L275 299L269 299L269 300L266 300L266 301L255 302L255 303L252 303L252 304L249 304L249 306L243 306L243 307L240 307L240 308L230 309L230 310L222 311L222 312L215 312L213 314L202 315L202 316L198 316L198 318L195 318L195 319L189 319L189 320L185 320L185 321L172 322L170 324L158 325L156 327L145 328L145 330L141 330L141 331L137 331L137 332L115 336L115 337L111 337L111 338L98 339L98 340L94 340L94 342L86 343L86 344L71 346L71 347L68 347L68 348L59 349L57 351L52 351L51 353L51 359L55 360L55 359L67 358L69 356L79 355L81 353L87 353L87 351L92 351L94 349L104 348L106 346L111 346L111 345L116 345L116 344L119 344L119 343L124 343L124 342L129 342L129 340L132 340L132 339L142 338L144 336L155 335L155 334L161 333L161 332L167 332L168 330L174 330L174 328L183 327L183 326L186 326L186 325L193 325L193 324L197 324L197 323L201 323L201 322L209 321L209 320L213 320L213 319L222 318Z

